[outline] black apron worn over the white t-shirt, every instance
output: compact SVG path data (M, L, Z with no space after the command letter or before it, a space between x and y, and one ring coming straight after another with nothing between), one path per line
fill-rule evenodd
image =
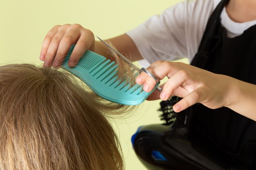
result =
M256 25L228 38L220 24L220 13L228 2L222 0L213 11L191 65L256 84ZM256 121L226 107L196 104L193 109L193 120L213 143L243 167L256 168Z

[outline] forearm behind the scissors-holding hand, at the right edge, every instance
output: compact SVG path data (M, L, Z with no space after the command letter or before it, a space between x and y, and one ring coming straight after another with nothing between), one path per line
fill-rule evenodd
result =
M256 85L229 77L227 107L256 121Z

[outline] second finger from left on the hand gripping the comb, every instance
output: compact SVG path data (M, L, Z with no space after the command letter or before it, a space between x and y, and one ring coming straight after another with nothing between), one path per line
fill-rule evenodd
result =
M58 46L64 35L65 35L65 31L58 31L52 38L52 41L49 44L49 47L45 56L45 63L43 65L44 67L52 66L52 62L54 61L56 52L58 50Z

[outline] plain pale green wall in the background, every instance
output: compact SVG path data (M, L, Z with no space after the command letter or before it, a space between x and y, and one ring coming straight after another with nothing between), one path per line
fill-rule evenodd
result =
M180 0L0 0L0 64L41 64L47 31L57 24L79 23L103 39L120 35ZM144 102L130 118L117 122L127 170L145 170L130 137L137 127L160 123L159 101Z

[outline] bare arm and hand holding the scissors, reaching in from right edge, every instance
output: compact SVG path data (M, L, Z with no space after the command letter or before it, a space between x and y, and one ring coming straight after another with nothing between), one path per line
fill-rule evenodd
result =
M183 97L173 106L180 112L195 103L208 108L228 107L235 112L256 121L256 85L242 82L226 75L184 64L181 62L157 61L148 70L159 79L167 76L168 81L161 85L162 93L154 91L150 100L167 100L171 95ZM144 84L144 91L153 89L156 82L146 73L137 77L138 84Z

